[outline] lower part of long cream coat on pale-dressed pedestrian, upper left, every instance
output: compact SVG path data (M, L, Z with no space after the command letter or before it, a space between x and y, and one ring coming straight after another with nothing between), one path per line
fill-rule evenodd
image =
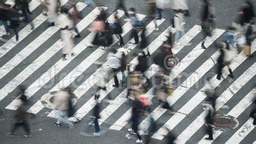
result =
M72 49L74 48L74 41L72 38L72 31L69 29L64 29L60 31L61 34L61 40L64 43L64 46L62 48L63 54L70 54L72 53Z

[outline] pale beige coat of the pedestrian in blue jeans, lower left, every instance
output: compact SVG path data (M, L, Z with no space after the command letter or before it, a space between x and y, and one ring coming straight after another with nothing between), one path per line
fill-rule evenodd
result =
M54 109L67 111L69 108L70 94L67 91L58 92L53 99Z

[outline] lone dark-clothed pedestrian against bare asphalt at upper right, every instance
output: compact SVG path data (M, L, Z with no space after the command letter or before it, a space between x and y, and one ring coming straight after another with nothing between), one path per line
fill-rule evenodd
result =
M212 36L212 31L215 28L215 18L214 18L214 8L212 7L212 4L210 3L210 0L202 0L203 6L202 6L202 16L201 16L201 22L202 22L202 29L204 31L204 40L202 42L202 48L206 49L204 43L205 38L207 36Z

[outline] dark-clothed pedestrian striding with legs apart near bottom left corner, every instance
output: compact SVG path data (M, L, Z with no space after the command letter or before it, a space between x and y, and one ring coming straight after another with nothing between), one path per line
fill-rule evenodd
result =
M12 130L8 134L6 134L6 136L15 136L14 134L15 130L18 127L22 126L26 131L26 134L24 134L24 136L30 137L32 136L30 125L29 125L29 118L31 114L27 113L26 111L28 107L28 99L27 99L27 96L25 95L25 89L23 87L21 88L21 95L19 97L19 100L20 100L20 106L16 110L16 114L14 116L15 123L13 124Z

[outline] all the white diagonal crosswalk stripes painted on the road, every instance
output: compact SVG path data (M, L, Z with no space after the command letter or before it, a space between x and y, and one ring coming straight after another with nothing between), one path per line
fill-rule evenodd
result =
M61 4L64 5L67 3L67 0L61 0ZM31 1L29 3L30 9L36 10L40 3L38 1ZM87 5L81 2L77 3L77 8L79 11L84 10L84 8ZM104 7L105 10L108 10L108 8ZM92 8L92 11L86 13L84 15L84 18L80 20L80 22L77 24L77 28L79 31L83 31L83 29L88 28L88 26L93 22L93 20L96 19L96 16L99 14L98 8ZM108 22L113 23L114 22L114 15L115 13L109 13L108 17ZM118 16L123 17L124 12L118 10ZM138 13L137 16L141 20L147 21L145 19L146 15ZM122 18L121 18L122 19ZM35 24L35 31L36 28L39 28L42 26L42 24L47 20L47 17L42 15L38 15L33 19L33 23ZM167 22L168 20L162 19L162 20L157 20L158 25L163 24L164 22ZM163 42L167 40L166 35L168 35L168 32L170 31L170 27L161 29L159 28L159 32L155 32L154 28L154 21L148 21L148 24L146 26L147 28L147 33L146 36L148 38L155 37L154 40L149 40L148 41L148 51L150 54L156 54L157 49L161 47ZM123 33L122 36L129 37L127 36L128 33L131 32L131 22L127 21L124 22L124 25L122 26L123 28ZM0 36L3 35L4 28L0 28ZM23 60L28 58L33 52L38 51L38 48L47 42L51 38L51 36L55 35L56 32L59 30L58 26L54 26L51 28L45 29L44 32L42 32L39 36L35 37L35 39L28 44L24 49L22 49L20 52L17 53L16 56L13 58L10 58L9 61L6 63L3 63L3 67L0 68L1 73L0 73L0 78L2 79L3 77L7 77L10 74L9 72L12 73L13 68L17 67L22 63ZM188 32L180 38L180 45L175 45L173 47L172 51L173 54L179 54L179 52L182 52L185 50L186 47L189 47L189 44L191 41L195 38L197 38L198 34L201 33L202 29L201 26L195 25L192 28L188 30ZM184 81L179 84L179 86L174 90L172 97L168 97L168 102L170 102L170 105L175 106L179 104L180 99L183 99L184 95L186 95L189 90L193 87L196 87L196 84L198 84L200 80L204 78L205 75L209 73L209 70L214 68L216 66L218 56L220 55L219 51L212 52L211 56L205 56L207 59L205 61L202 61L202 64L200 63L199 66L195 68L195 71L190 72L189 74L186 74L184 71L188 67L192 67L191 65L195 63L195 61L199 58L202 57L202 54L204 54L205 51L209 51L208 47L211 47L211 45L214 45L214 42L216 42L221 35L225 33L225 30L223 29L215 29L214 33L211 37L207 38L205 41L205 47L207 49L202 49L201 44L202 42L198 42L199 44L196 44L193 49L191 49L184 58L182 58L181 61L172 69L172 72L170 74L170 82L172 82L174 79L179 79L179 77L186 77ZM153 35L152 35L153 34ZM19 42L15 41L15 36L12 36L12 38L8 39L7 42L4 42L4 44L1 46L0 50L0 56L6 56L9 52L12 52L11 50L14 47L19 47L19 45L25 40L25 38L29 35L33 35L33 31L31 30L31 26L28 24L28 26L25 26L23 29L20 29L19 32ZM39 115L42 113L42 109L45 108L44 104L40 101L40 97L42 96L42 93L40 93L42 90L47 90L47 92L54 92L57 90L60 90L61 88L65 88L67 86L72 85L74 81L79 81L81 80L80 77L83 76L83 73L86 74L87 71L90 70L90 68L99 60L99 58L103 58L104 54L106 51L100 49L101 47L98 47L97 49L93 51L89 51L88 45L90 44L90 40L93 39L93 36L95 33L89 33L85 38L81 39L79 42L77 42L76 46L74 47L73 51L76 53L75 56L68 58L68 60L63 61L60 60L59 58L57 62L52 62L51 67L49 69L45 70L44 73L39 74L36 79L29 80L28 77L33 75L35 72L38 72L40 68L45 63L49 63L49 60L56 56L58 52L60 52L61 47L63 46L63 42L59 38L57 38L54 41L54 44L52 43L49 48L42 52L38 58L31 63L28 64L26 68L23 70L20 70L20 73L17 74L17 76L13 77L10 79L4 86L2 86L0 90L0 106L2 105L1 102L8 101L13 97L13 93L15 93L16 88L24 83L24 81L28 81L28 89L26 92L26 95L28 96L28 99L30 100L32 98L33 104L28 108L29 113L34 113L36 115ZM198 40L195 40L198 41ZM133 39L129 38L129 42L132 43L134 42ZM255 43L254 41L252 45L252 53L255 52ZM116 42L114 42L116 44ZM129 49L129 52L136 51L138 47L133 44L126 44L123 50ZM192 48L192 47L191 47ZM93 48L94 49L94 48ZM76 65L74 68L69 68L65 74L60 74L65 68L68 68L69 65L72 65L74 61L77 60L77 58L80 57L79 54L81 54L83 51L90 52L84 60L79 60L80 62ZM144 50L145 51L145 50ZM129 54L130 56L130 54ZM134 68L135 65L138 64L138 56L133 56L131 54L131 61L129 64L132 65L131 69ZM253 58L248 58L244 56L243 52L239 53L236 58L231 63L231 68L232 70L236 70L237 68L244 67L243 63L249 63L250 67L247 69L244 69L243 72L241 72L241 76L235 77L235 81L231 81L229 85L227 86L227 90L223 90L224 92L218 97L216 100L216 110L222 108L227 104L227 102L230 99L234 99L234 95L236 95L241 88L245 84L248 84L249 81L252 81L252 79L255 79L255 72L256 72L256 64L255 62L252 62ZM247 66L246 66L247 67ZM94 106L95 106L95 100L94 97L84 97L84 95L90 90L94 89L95 84L97 84L97 77L99 75L104 75L106 74L108 70L108 62L104 62L102 66L99 68L96 68L97 70L93 71L93 73L90 73L90 76L88 76L87 79L83 79L79 85L76 86L76 89L74 90L74 94L77 97L77 101L81 100L83 101L86 99L86 101L81 104L81 106L77 106L77 111L74 114L74 117L76 117L76 120L82 120L83 118L86 118L88 116L88 113L92 112ZM149 65L148 70L147 70L147 76L148 77L154 77L158 70L158 66L154 63ZM127 71L125 72L127 76ZM59 79L59 75L63 75L61 79ZM121 72L118 72L117 74L118 79L121 79L122 74ZM235 75L236 76L236 75ZM56 78L58 77L58 78ZM225 80L230 79L228 78L228 71L226 68L223 69L223 77ZM211 79L211 85L215 88L216 86L221 86L222 83L221 81L216 80L216 75L212 77ZM102 111L100 112L100 119L99 119L99 125L100 126L105 126L103 125L104 123L112 122L110 126L108 127L109 129L113 129L115 131L122 131L124 127L129 123L129 118L131 118L131 111L132 108L131 106L124 106L125 101L127 98L125 97L127 95L127 88L124 88L121 90L118 90L118 88L114 88L112 84L114 83L113 78L110 79L110 81L106 84L107 91L100 93L100 101L102 103L106 102L106 98L108 95L111 95L113 97L113 101L110 102ZM201 86L200 84L198 86ZM196 87L197 88L197 87ZM180 125L186 118L188 118L188 115L191 115L191 111L193 109L198 108L202 101L207 97L204 93L205 90L209 88L209 84L205 84L204 86L201 86L200 88L196 89L195 95L191 97L191 99L188 99L185 104L180 106L180 109L177 109L178 113L175 113L175 115L171 116L170 118L166 119L166 116L164 114L166 113L167 109L163 109L160 106L156 106L155 109L152 109L152 116L154 120L157 120L157 122L162 122L162 118L164 119L164 124L157 129L156 132L152 135L152 138L157 139L157 140L163 140L164 136L168 134L166 131L165 127L168 127L171 131L173 129L177 128L177 125ZM118 92L116 94L116 92ZM148 97L149 100L154 100L154 87L150 88L147 93L145 93L145 96ZM239 118L246 109L249 108L249 106L252 105L252 99L254 97L253 95L253 90L251 90L247 95L243 95L243 99L241 99L234 108L232 108L227 115L234 116L235 118ZM37 95L37 93L40 93ZM93 92L94 93L94 92ZM95 92L96 93L96 92ZM112 95L112 93L115 93L115 95ZM79 103L79 102L78 102ZM6 109L11 109L11 110L16 110L19 108L20 102L19 99L14 99L10 100L10 103L6 104L5 108ZM124 107L123 107L124 106ZM127 108L128 107L128 108ZM117 111L120 110L122 113L117 113ZM190 138L193 137L193 135L198 132L198 130L204 125L204 115L205 112L200 112L198 113L193 120L191 120L191 124L188 124L188 127L184 128L183 131L179 132L177 134L177 143L186 143ZM56 118L57 115L54 110L52 110L47 116ZM118 116L118 118L116 118ZM112 118L112 117L115 117ZM74 121L74 118L70 118L69 120ZM246 119L247 120L247 119ZM255 126L252 124L252 120L248 119L247 121L244 120L244 123L239 125L239 128L236 129L236 132L234 131L232 136L230 138L226 138L227 143L239 143L244 140L244 138L249 134L250 132L255 129ZM140 122L139 129L140 131L145 131L148 127L148 116L146 118L143 118ZM222 138L225 136L225 132L221 131L216 131L214 133L214 139L215 138ZM200 137L202 138L202 137ZM199 143L212 143L212 141L206 141L205 140L206 136L202 138L202 140L198 140ZM216 141L215 141L216 142Z

